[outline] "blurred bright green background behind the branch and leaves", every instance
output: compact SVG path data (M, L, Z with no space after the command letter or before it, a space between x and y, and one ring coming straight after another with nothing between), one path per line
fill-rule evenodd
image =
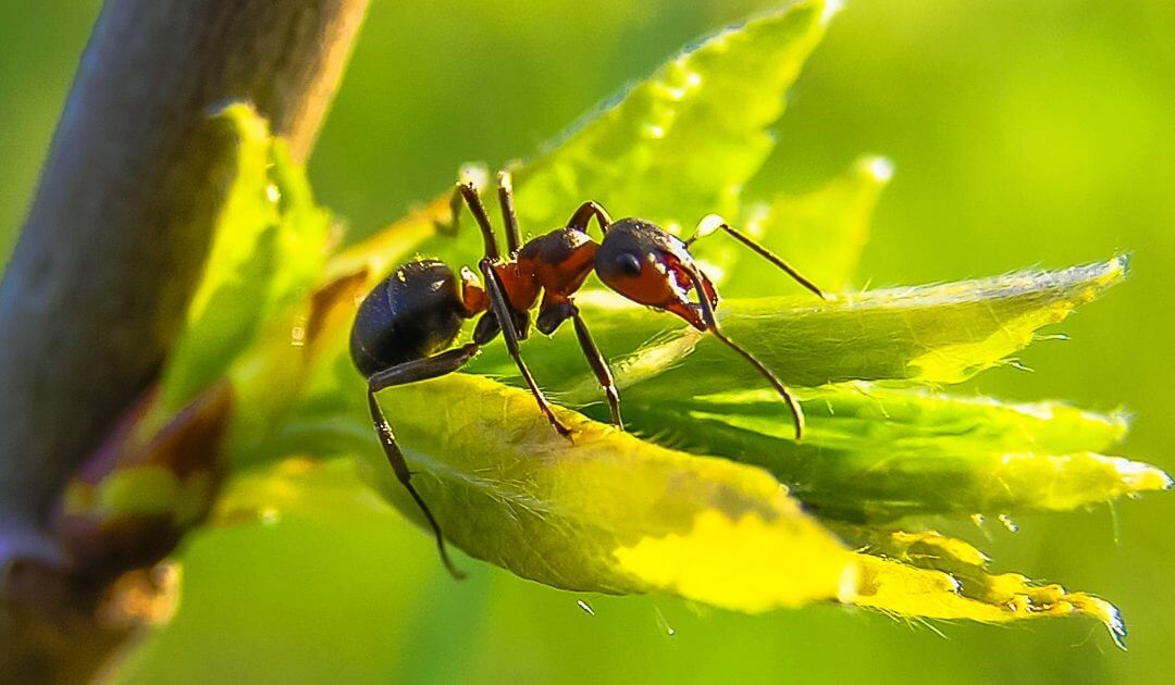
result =
M532 154L602 98L759 0L376 0L311 161L352 235L434 196L464 161ZM27 208L96 0L0 6L0 255ZM972 387L1126 405L1128 456L1175 457L1175 4L858 0L790 96L757 183L803 190L858 155L891 157L859 286L1061 267L1133 250L1134 277L1080 311L1073 340ZM819 236L813 236L819 240ZM1175 503L1019 519L973 539L998 569L1097 592L1092 622L907 624L834 606L745 617L669 599L576 596L475 564L454 583L382 505L202 535L184 603L129 681L1168 681ZM590 602L595 616L577 606ZM670 634L672 626L676 634ZM942 634L940 634L942 633Z

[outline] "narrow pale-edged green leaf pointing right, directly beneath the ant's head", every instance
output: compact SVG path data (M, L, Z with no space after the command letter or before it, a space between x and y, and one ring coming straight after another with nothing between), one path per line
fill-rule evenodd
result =
M848 380L958 383L1027 347L1038 329L1120 283L1127 263L1120 256L1056 271L866 290L832 302L811 295L727 300L718 313L732 338L793 385ZM584 317L613 360L644 345L612 364L627 402L671 399L683 388L706 392L763 387L761 376L732 358L727 348L670 315L585 303ZM651 340L654 344L647 345ZM526 355L535 376L564 401L598 401L599 389L573 331L559 331L551 341L536 336ZM497 348L488 348L472 368L506 378L517 374Z

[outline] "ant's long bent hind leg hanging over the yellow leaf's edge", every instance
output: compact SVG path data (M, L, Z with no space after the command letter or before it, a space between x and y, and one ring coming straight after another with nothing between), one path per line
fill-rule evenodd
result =
M375 394L384 388L391 388L392 385L403 385L405 383L414 383L416 381L424 381L437 376L444 376L445 374L451 374L465 365L469 360L474 358L474 355L477 354L477 348L478 345L476 344L466 344L434 357L414 360L411 362L397 364L390 369L376 371L370 378L368 378L368 409L371 412L371 423L375 425L376 434L380 436L380 445L383 448L383 454L388 457L388 463L391 464L391 470L396 474L396 479L400 481L405 490L408 490L412 501L421 508L421 512L424 515L424 519L428 522L429 528L432 529L432 535L437 540L437 550L441 552L441 560L444 563L445 569L448 569L452 577L458 580L464 578L465 575L452 564L452 560L449 558L449 552L444 546L444 536L441 533L441 524L438 524L436 518L432 517L432 512L424 503L424 498L421 497L419 492L416 491L416 488L412 486L412 472L408 469L408 462L404 459L404 452L400 450L400 445L396 443L396 436L391 432L391 425L384 417L383 410L380 408L380 403L375 398Z

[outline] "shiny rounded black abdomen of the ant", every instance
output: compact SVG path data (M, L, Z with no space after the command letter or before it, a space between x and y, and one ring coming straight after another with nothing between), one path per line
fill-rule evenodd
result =
M351 361L364 376L435 355L464 318L461 284L437 260L409 262L380 282L355 315Z

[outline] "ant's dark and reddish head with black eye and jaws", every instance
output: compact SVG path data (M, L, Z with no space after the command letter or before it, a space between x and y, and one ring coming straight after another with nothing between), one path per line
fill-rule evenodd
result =
M698 297L706 297L711 307L718 305L718 293L698 269L686 244L642 219L622 219L607 228L596 253L596 274L629 300L672 311L698 330L709 327L701 308L690 297L696 290L694 280L705 291Z

